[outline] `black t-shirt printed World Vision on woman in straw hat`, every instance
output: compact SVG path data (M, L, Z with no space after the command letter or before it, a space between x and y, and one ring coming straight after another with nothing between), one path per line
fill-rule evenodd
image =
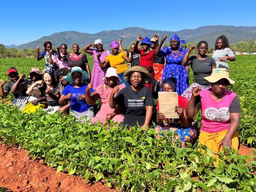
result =
M137 122L143 125L146 117L146 106L154 106L150 89L142 86L139 91L133 91L131 86L125 87L117 94L117 105L124 108L123 126L135 126Z

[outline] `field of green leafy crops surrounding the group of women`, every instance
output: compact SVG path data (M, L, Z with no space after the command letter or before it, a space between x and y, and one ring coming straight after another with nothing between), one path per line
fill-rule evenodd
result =
M256 143L255 61L255 55L238 55L235 62L229 63L230 77L236 82L229 89L241 100L240 140L252 146ZM0 66L0 79L6 79L10 66L28 75L32 67L42 69L44 63L31 58L0 59ZM171 145L171 132L156 139L153 129L82 125L73 117L60 118L60 114L43 111L22 114L2 103L0 116L0 138L5 139L2 142L21 146L34 157L43 157L58 172L82 175L86 180L104 179L107 186L128 191L255 190L255 157L226 151L227 156L219 154L216 166L215 156L202 146L180 148L176 141Z

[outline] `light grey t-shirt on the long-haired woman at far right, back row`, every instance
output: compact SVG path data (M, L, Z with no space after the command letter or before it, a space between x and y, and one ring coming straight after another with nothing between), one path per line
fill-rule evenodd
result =
M228 60L225 61L220 61L220 58L222 57L235 57L233 51L226 47L225 49L221 49L221 50L214 50L212 53L212 58L215 60L216 62L216 67L217 68L226 68L229 69L228 67Z

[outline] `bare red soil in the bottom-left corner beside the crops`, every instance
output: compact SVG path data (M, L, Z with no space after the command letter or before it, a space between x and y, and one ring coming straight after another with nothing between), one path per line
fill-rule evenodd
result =
M76 175L57 173L27 151L0 143L0 188L12 191L115 191L102 183L85 183Z

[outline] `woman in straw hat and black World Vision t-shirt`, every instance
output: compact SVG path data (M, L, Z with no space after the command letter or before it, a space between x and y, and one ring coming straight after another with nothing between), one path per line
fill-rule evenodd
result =
M149 129L154 102L150 89L143 86L149 78L148 70L134 66L124 72L124 78L131 85L121 91L118 86L114 87L110 94L109 107L115 108L116 105L119 105L124 108L123 127L136 126L138 123L142 129ZM117 92L118 94L114 98L114 94Z

